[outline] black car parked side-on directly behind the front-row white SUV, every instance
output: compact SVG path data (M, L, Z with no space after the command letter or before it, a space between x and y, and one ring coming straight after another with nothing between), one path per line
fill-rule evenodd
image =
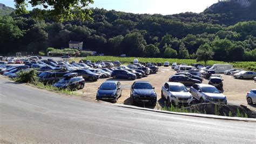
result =
M183 84L192 85L194 83L201 83L201 81L190 78L185 75L174 75L169 78L169 82L179 82Z

